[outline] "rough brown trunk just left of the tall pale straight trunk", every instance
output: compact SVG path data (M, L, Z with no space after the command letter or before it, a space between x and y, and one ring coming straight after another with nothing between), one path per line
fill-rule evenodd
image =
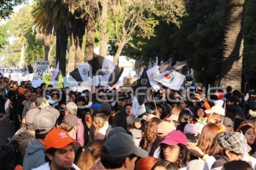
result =
M85 62L93 58L95 23L91 18L88 19L86 30Z

